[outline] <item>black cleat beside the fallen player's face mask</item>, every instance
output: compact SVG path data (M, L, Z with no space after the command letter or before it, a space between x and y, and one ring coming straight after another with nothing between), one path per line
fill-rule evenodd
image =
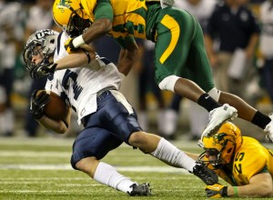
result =
M206 185L215 185L218 183L218 175L212 169L207 168L204 164L197 162L192 173L197 175L197 177L199 177Z

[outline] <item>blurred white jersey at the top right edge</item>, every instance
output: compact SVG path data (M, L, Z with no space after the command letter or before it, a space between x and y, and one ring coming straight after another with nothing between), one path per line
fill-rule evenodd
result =
M263 55L273 58L273 8L269 1L260 6L260 20L262 31L260 34L259 48Z

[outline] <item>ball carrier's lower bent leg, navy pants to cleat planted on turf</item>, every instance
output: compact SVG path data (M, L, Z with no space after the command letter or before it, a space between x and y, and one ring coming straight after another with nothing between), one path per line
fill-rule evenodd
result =
M87 127L76 137L71 165L100 184L108 185L129 195L150 195L148 184L138 185L129 177L119 174L112 165L99 161L121 144L121 140L105 129Z

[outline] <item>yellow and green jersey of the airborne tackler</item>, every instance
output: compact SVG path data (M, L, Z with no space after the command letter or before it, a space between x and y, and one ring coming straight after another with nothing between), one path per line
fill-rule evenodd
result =
M109 13L99 9L109 4L108 0L81 0L89 20L94 22L100 17L110 18ZM112 30L109 35L114 38L125 38L132 35L137 38L146 38L146 0L111 0L113 9ZM109 4L109 5L110 5Z

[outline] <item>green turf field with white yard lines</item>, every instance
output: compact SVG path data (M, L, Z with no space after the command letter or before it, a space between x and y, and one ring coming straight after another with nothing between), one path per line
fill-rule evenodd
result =
M72 144L72 139L63 138L0 137L0 199L206 199L205 185L196 176L127 145L106 155L104 161L138 183L150 183L152 195L131 197L100 185L71 168ZM201 152L196 143L177 141L175 145Z

